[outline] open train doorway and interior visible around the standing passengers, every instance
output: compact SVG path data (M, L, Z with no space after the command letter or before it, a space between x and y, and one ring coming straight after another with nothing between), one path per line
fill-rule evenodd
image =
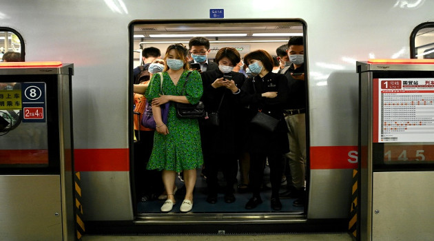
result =
M249 21L136 21L130 25L130 69L143 65L142 52L145 48L154 47L161 51L161 59L165 56L165 50L167 46L174 43L182 43L188 48L189 40L194 36L205 36L209 39L210 48L207 55L208 61L214 61L216 54L220 48L232 47L238 50L240 56L254 50L265 50L269 54L276 56L276 49L282 45L287 45L289 39L293 36L302 36L304 39L304 59L307 56L306 45L306 25L304 22L297 21L264 21L264 20L249 20ZM278 58L280 59L280 58ZM307 61L306 61L307 62ZM285 67L285 61L280 61L282 67ZM287 61L287 65L289 65ZM279 65L279 63L277 63ZM241 69L241 72L243 70ZM304 72L307 73L307 63L304 65ZM134 83L133 72L130 72L130 85ZM247 76L247 74L246 74ZM248 78L249 76L247 76ZM307 92L307 78L304 81L304 90ZM133 95L133 94L132 94ZM307 96L304 95L304 96ZM130 98L134 99L133 96ZM307 106L307 98L302 100L304 105ZM136 101L136 104L138 101ZM130 109L134 109L133 105ZM308 109L308 108L306 108ZM306 109L303 113L306 113L304 135L309 139L309 117ZM301 113L301 112L300 112ZM293 114L293 113L291 113ZM236 189L235 196L236 201L234 203L226 203L223 201L223 194L219 194L218 200L215 204L207 202L207 181L206 174L203 174L200 170L197 172L196 187L194 191L194 208L191 213L193 216L183 216L180 214L179 205L178 208L174 208L170 213L161 213L161 205L165 201L165 194L163 189L159 193L152 193L147 195L143 190L147 189L147 185L154 184L152 180L143 176L149 174L145 171L145 161L141 158L134 158L134 156L140 156L140 149L137 147L137 143L143 138L143 132L137 132L134 134L133 126L138 126L140 117L137 113L130 114L130 148L132 149L132 193L134 203L134 210L136 212L136 222L138 223L153 223L156 220L160 222L184 222L184 223L198 223L198 222L251 222L251 220L266 220L266 221L278 221L278 222L293 222L294 220L305 220L307 216L307 205L294 205L296 197L281 198L282 210L274 211L270 207L270 183L269 183L269 167L265 165L265 178L262 183L262 199L264 202L254 210L245 209L245 204L251 197L251 192L242 190L248 187L245 179L246 173L243 173L242 163L238 166L238 188ZM134 124L137 122L136 124ZM150 132L150 131L149 131ZM138 137L138 133L142 133ZM149 136L149 135L146 135ZM141 138L141 140L138 140ZM309 140L306 140L304 145L306 149L309 149ZM147 138L146 140L152 140ZM143 146L147 144L143 143ZM135 148L136 147L136 148ZM148 145L147 148L151 148ZM307 158L308 160L309 158ZM288 163L288 160L285 160ZM285 174L282 175L282 186L280 193L285 193L289 187L291 187L291 171L289 171L289 165L286 165ZM309 163L305 165L306 177L309 176ZM206 166L204 167L206 170ZM244 176L243 176L244 174ZM152 174L154 175L154 174ZM158 177L158 174L156 175ZM304 178L309 180L309 178ZM224 185L224 177L219 172L219 183ZM248 179L247 179L248 180ZM304 181L305 182L305 181ZM175 195L176 199L182 201L183 199L183 176L180 174L176 178L176 189L178 190ZM307 185L309 187L309 185ZM147 195L147 196L146 196ZM304 195L304 194L303 194ZM300 196L298 196L300 197ZM304 198L304 196L303 196ZM161 199L161 200L158 200Z

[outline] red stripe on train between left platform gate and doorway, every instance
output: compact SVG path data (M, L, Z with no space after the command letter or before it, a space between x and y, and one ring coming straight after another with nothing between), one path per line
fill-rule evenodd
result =
M75 171L130 171L129 149L74 149Z

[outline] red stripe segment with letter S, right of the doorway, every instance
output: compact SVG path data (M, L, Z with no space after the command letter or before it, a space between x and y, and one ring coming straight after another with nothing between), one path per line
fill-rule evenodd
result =
M311 147L311 169L353 169L358 164L357 146Z

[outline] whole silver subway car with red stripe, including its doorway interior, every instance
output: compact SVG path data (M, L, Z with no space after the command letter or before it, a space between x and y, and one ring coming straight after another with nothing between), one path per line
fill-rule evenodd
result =
M434 20L434 2L424 0L5 0L1 6L3 39L9 38L6 33L19 39L13 51L21 52L24 61L74 64L74 171L81 174L83 220L89 233L345 231L353 169L358 167L355 62L415 57L434 42L431 29L420 25ZM276 54L291 36L304 37L304 207L282 200L282 211L272 211L265 201L249 211L244 209L249 196L239 193L234 204L209 205L200 177L189 213L160 213L163 201L138 200L132 70L140 64L143 48L154 46L164 54L167 45L187 45L200 34L211 42L209 59L225 46L237 48L241 56L258 49ZM12 45L0 51L12 50Z

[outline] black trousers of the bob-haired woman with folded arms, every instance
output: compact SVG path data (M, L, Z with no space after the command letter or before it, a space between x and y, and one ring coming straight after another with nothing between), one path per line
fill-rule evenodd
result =
M271 197L278 197L284 158L282 154L265 154L250 152L249 180L254 197L260 196L260 185L264 178L265 161L270 167Z

